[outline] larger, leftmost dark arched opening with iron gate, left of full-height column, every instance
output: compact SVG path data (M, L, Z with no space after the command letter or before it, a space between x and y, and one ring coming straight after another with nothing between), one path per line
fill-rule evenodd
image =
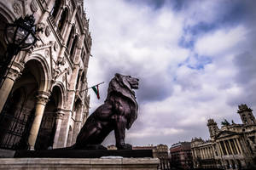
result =
M15 81L0 114L0 147L28 149L27 139L32 127L38 87L44 83L43 67L38 60L26 63Z

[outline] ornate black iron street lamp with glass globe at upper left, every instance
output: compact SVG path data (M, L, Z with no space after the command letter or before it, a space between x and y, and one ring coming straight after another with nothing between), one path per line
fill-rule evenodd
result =
M15 20L13 24L7 24L5 27L5 39L7 41L7 54L6 59L4 60L3 66L1 68L1 86L2 88L4 78L9 73L7 70L10 61L13 57L16 57L16 54L22 49L31 48L38 38L36 37L36 26L34 25L35 19L33 15L26 15L23 19L20 17ZM13 59L14 62L15 59ZM13 65L13 62L11 65ZM10 67L11 67L10 65ZM9 68L10 68L9 67ZM5 74L6 73L6 74Z

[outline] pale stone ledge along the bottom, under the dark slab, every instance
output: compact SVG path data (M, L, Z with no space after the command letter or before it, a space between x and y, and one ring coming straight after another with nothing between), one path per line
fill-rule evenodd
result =
M157 170L157 158L1 158L0 169Z

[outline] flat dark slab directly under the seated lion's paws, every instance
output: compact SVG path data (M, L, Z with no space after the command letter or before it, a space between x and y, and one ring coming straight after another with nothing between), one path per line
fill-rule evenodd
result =
M102 156L153 157L152 150L16 150L15 157L100 158Z

